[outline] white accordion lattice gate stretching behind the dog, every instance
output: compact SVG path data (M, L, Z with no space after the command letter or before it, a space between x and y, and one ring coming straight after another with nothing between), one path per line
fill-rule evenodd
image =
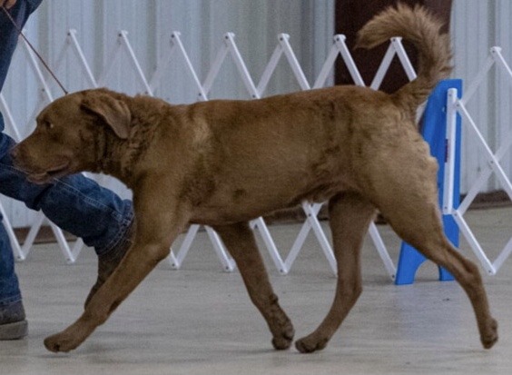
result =
M50 92L48 84L46 83L44 74L41 73L39 65L38 65L36 59L34 58L34 55L28 50L28 48L25 48L25 49L27 52L28 60L34 69L35 76L37 77L37 80L40 84L41 91L44 94L43 95L43 101L44 101L43 104L48 104L53 101L53 96ZM332 43L332 45L330 47L330 53L328 54L327 59L326 59L325 63L323 64L322 69L320 70L319 76L317 77L317 79L315 80L315 82L312 86L308 83L308 80L306 79L306 76L300 67L300 63L298 62L298 60L291 48L290 36L285 35L285 34L278 35L278 44L277 44L273 54L271 54L271 59L269 60L268 64L266 65L266 68L263 71L263 74L261 75L261 80L257 84L252 79L251 74L249 73L249 71L246 67L246 64L244 63L244 60L241 57L241 54L237 47L237 44L235 43L235 35L233 35L232 33L228 33L223 36L222 45L221 45L215 59L213 60L210 70L209 70L208 74L206 75L206 78L204 79L203 82L200 80L198 74L196 74L196 70L194 69L191 59L189 58L189 55L187 54L187 51L182 44L182 40L180 38L180 33L178 33L178 32L172 33L171 38L170 38L169 48L166 51L166 53L162 55L162 58L159 60L159 62L157 64L156 70L153 72L153 75L151 77L149 77L149 79L148 79L148 77L146 77L145 74L143 74L143 69L141 68L141 65L139 64L139 61L138 61L136 55L133 53L132 45L130 44L130 41L128 39L128 33L125 31L121 31L117 35L116 47L113 48L112 55L107 60L107 64L103 67L103 72L102 72L102 74L100 74L98 79L96 79L94 77L94 74L92 73L92 70L90 68L90 64L87 62L87 60L84 56L83 50L76 39L76 31L75 30L69 30L69 32L67 33L67 35L64 39L63 47L59 53L58 61L59 62L64 61L64 57L69 54L74 56L75 61L77 61L78 65L80 66L80 69L81 69L80 74L82 74L85 77L85 80L86 80L88 86L84 87L84 89L85 88L95 88L95 87L107 85L108 80L109 80L109 75L112 73L116 62L119 60L119 57L121 55L124 55L125 59L127 59L130 62L130 66L131 66L131 72L124 72L124 74L131 74L131 76L133 76L137 80L137 82L140 84L143 93L148 94L148 95L153 95L153 92L155 91L155 89L158 88L158 85L161 82L161 78L166 73L166 69L168 68L168 65L170 64L172 59L174 59L174 58L182 59L182 62L184 62L185 66L186 66L186 71L187 71L186 73L190 75L192 83L197 88L197 93L198 93L197 98L200 101L208 100L208 95L210 94L210 92L212 90L212 86L215 82L215 79L216 79L217 75L219 74L221 67L224 64L224 62L226 61L226 59L228 58L228 56L231 57L231 60L234 63L234 66L236 67L236 73L240 77L242 83L244 84L244 87L246 88L248 94L250 95L250 97L252 99L258 99L263 96L269 82L271 81L272 74L274 73L277 65L279 64L279 62L281 61L282 58L284 58L285 61L290 65L291 72L294 75L294 77L296 78L298 84L300 85L300 89L302 89L302 90L309 90L310 88L323 87L326 84L326 82L330 76L330 72L333 68L334 63L336 62L336 60L339 57L343 60L344 64L346 64L346 66L348 67L348 70L350 72L352 79L354 80L354 83L358 84L358 85L365 84L359 74L357 66L354 64L354 62L352 60L349 49L347 48L347 45L345 44L344 35L335 35L334 36L334 42ZM414 69L412 68L412 65L409 62L409 58L408 58L407 54L405 53L405 50L403 49L403 46L401 44L401 39L398 37L392 38L391 43L389 44L388 52L384 56L384 59L383 59L382 63L380 64L379 71L376 74L376 77L373 80L373 82L370 84L371 88L373 88L373 89L379 88L379 85L389 68L389 64L391 63L391 60L394 58L395 55L397 55L399 57L399 61L403 65L404 70L408 74L409 79L414 79L416 77ZM501 60L498 59L497 61L498 62L502 61L502 59ZM502 63L499 63L499 64L504 64L504 66L507 66L507 64L504 61L502 61ZM490 67L490 65L487 67L487 71L488 71L489 67ZM55 70L57 71L57 74L58 74L59 68L60 68L60 64L57 64L55 66ZM509 71L509 68L508 68L508 71ZM483 73L481 75L483 76L483 75L485 75L485 73ZM483 79L483 78L481 77L480 79ZM455 95L455 97L457 97L457 95ZM454 106L458 106L457 111L464 114L463 101L464 101L464 99L462 101L458 102L457 104L450 106L449 108L451 108L453 110ZM42 105L42 104L39 104L38 107L40 107L40 105ZM16 140L19 140L20 136L16 130L18 128L18 126L15 123L15 119L9 114L10 113L9 106L5 102L5 98L2 94L0 94L0 109L2 110L3 113L5 113L6 124L8 127L10 127L10 129L12 131L11 133L14 133ZM35 113L34 113L32 119L34 119L34 116L35 116ZM477 129L476 126L474 128ZM478 130L477 130L477 132L478 132ZM484 140L482 140L482 142L485 143ZM507 147L511 143L512 143L512 141L508 142ZM485 143L485 144L487 145L487 143ZM491 172L488 172L488 173L490 174L490 173L492 173L492 171L496 171L496 170L500 170L501 172L503 172L502 169L499 167L499 163L498 163L500 154L503 152L498 151L496 155L492 154L490 151L489 151L489 153L490 153L489 164L491 165L491 167L489 167L489 168L490 168ZM487 173L487 172L482 173L482 177L480 178L480 179L484 179L484 181L486 178L488 178L488 175L487 175L487 177L484 175L485 173ZM505 176L504 173L500 173L498 175ZM448 183L448 186L449 186L449 177L450 176L447 175L447 179L445 181L445 183ZM505 176L503 178L503 180L506 180L507 183L509 184L507 176ZM468 194L468 198L467 198L467 200L465 200L465 202L468 201L468 199L471 195L473 195L473 197L470 200L470 201L472 201L472 199L474 199L474 196L477 194L478 189L480 187L481 187L481 185L478 185L476 183L475 187L471 190L470 194ZM445 189L445 192L446 191L447 190ZM507 193L509 194L509 196L512 199L512 188L510 188L510 191L507 191ZM456 218L456 220L458 220L459 227L461 228L462 232L465 234L465 236L467 238L471 237L471 232L470 232L470 229L468 228L468 224L466 222L464 222L462 215L467 210L468 204L470 203L470 201L466 204L465 204L465 202L463 202L461 204L461 206L458 208L458 210L455 210L455 209L453 209L453 207L450 207L449 202L448 203L445 202L445 207L443 207L445 213L453 214L454 217ZM278 249L275 245L275 242L273 241L273 239L271 237L271 232L269 231L264 220L262 218L258 218L251 222L251 228L254 231L257 231L260 233L261 238L262 238L268 252L271 255L271 259L274 262L274 265L276 266L277 270L281 274L287 274L290 271L292 264L295 261L295 259L297 258L297 255L299 254L301 248L303 247L306 237L308 236L310 231L312 231L314 233L314 235L320 242L321 250L324 253L324 255L326 256L326 258L330 264L331 271L336 273L336 262L335 262L333 252L330 247L330 242L326 236L326 233L323 232L323 230L320 226L320 222L317 217L318 213L320 212L320 207L321 207L321 204L310 204L308 202L302 203L302 209L305 212L307 219L303 223L295 242L292 244L292 246L290 248L290 252L288 252L286 258L284 258L284 259L281 256L281 252L278 251ZM37 234L42 223L44 222L44 216L42 213L39 213L39 215L37 216L37 220L33 223L31 230L29 232L29 235L28 235L27 239L25 240L24 246L21 247L15 239L14 232L12 231L12 227L8 221L8 218L5 215L5 210L4 210L4 207L2 207L1 203L0 203L0 210L5 218L4 219L5 226L6 226L7 232L10 235L10 239L13 242L16 258L18 260L24 260L26 255L28 254L28 252L30 252L30 248L32 247L32 245L34 243L35 235ZM74 244L73 248L70 248L68 243L65 242L65 240L64 240L64 235L57 227L54 226L54 224L52 224L52 229L54 230L55 237L59 243L59 246L60 246L62 252L64 253L66 261L67 262L75 262L76 258L78 257L78 255L83 247L83 242L78 241ZM199 229L200 229L199 225L192 225L190 230L185 234L184 240L182 241L179 249L172 250L172 252L169 256L169 262L171 263L173 268L178 269L182 266L182 262L184 261L189 250L191 249L192 242L193 242L197 232L199 231ZM235 268L235 264L232 261L231 257L229 256L228 252L226 252L218 234L216 232L214 232L212 230L212 228L210 228L210 227L205 227L205 230L208 233L208 236L212 242L213 248L214 248L215 252L217 253L217 256L218 256L220 262L222 263L222 269L224 271L233 271ZM395 267L393 261L391 260L391 258L389 256L389 252L387 251L386 246L379 235L379 231L378 231L377 227L373 223L370 225L369 234L379 252L379 256L380 256L382 262L384 263L386 271L388 271L388 273L389 273L389 277L391 279L394 279L395 275L396 275L396 267ZM483 250L481 250L481 247L479 247L479 244L478 244L478 242L476 242L476 240L475 240L475 242L471 242L471 243L472 243L472 248L477 249L476 252L485 254L483 252ZM510 242L508 242L506 249L501 253L497 262L499 264L504 262L505 258L507 258L507 256L509 255L510 252L512 252L512 240ZM485 259L487 259L487 257L481 256L479 259L481 260L484 267L487 267L487 269L489 269L490 263L485 262ZM490 271L490 273L494 273L497 270L499 264L495 264L494 266L492 266L493 267L492 270L494 270L494 271Z

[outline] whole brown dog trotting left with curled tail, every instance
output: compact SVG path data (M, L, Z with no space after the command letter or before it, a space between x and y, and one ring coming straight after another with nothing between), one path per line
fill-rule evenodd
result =
M338 262L332 307L298 350L323 349L361 292L359 250L376 209L399 236L450 271L473 304L485 348L497 341L478 267L445 238L436 172L414 123L418 104L450 71L447 35L422 8L375 17L359 34L372 47L402 35L419 52L418 79L396 94L339 86L255 101L171 105L108 90L69 94L47 106L13 156L38 183L69 173L109 173L133 190L133 247L65 331L46 348L73 350L169 254L189 223L211 225L268 322L276 349L293 338L248 221L302 201L329 202Z

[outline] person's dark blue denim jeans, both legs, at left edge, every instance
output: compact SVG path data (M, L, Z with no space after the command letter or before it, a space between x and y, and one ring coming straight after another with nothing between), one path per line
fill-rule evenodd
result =
M40 3L41 0L18 0L10 13L23 27ZM15 27L0 12L0 90L15 51L17 36ZM25 173L15 169L9 155L15 141L3 132L4 119L0 113L0 193L25 202L33 210L42 210L59 227L82 237L98 255L109 252L125 240L133 222L132 202L122 200L82 174L45 185L29 183ZM14 254L5 227L0 224L0 306L20 300Z

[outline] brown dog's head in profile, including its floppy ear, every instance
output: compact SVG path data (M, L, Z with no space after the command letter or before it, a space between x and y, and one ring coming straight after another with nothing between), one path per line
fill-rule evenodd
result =
M71 173L99 172L107 134L127 139L131 113L120 94L97 89L55 100L36 121L34 133L11 154L30 181L49 183Z

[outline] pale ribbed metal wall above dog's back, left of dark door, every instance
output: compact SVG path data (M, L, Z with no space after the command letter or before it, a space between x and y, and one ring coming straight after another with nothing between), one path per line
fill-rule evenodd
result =
M45 1L38 11L41 19L38 31L44 38L44 54L55 59L67 29L77 29L84 54L94 62L95 74L99 74L115 44L115 35L119 30L127 30L146 75L153 72L168 48L172 31L180 31L202 79L226 32L236 35L241 54L255 77L261 75L277 44L277 35L285 32L291 35L301 64L312 78L320 69L322 55L328 47L326 41L332 35L332 4L332 0L51 0ZM73 69L67 72L66 81L74 81ZM164 76L164 88L155 94L172 101L192 102L197 93L187 78L179 65L174 66ZM224 68L213 96L244 94L241 81L232 78L229 66ZM140 91L130 77L123 76L121 69L109 83L123 91ZM280 91L290 84L289 74L281 74L274 81L274 87L280 87ZM80 85L77 82L70 89L78 89Z

